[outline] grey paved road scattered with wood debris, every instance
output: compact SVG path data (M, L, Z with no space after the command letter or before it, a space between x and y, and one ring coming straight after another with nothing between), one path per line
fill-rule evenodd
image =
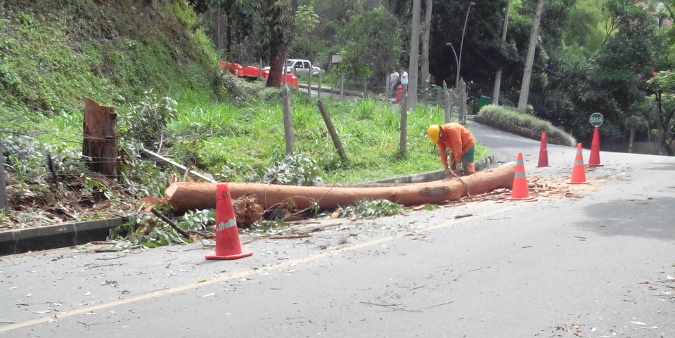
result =
M528 177L571 173L572 148L536 168L538 142L472 130ZM0 336L675 337L675 158L601 162L583 198L317 221L243 238L237 261L200 243L0 257Z

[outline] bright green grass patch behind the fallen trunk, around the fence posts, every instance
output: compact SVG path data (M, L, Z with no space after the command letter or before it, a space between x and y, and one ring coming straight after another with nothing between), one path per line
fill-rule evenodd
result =
M238 81L230 79L229 81ZM172 153L179 161L227 181L258 179L285 158L282 105L257 99L259 84L238 84L249 101L214 102L205 95L178 97L178 116L169 123ZM268 90L268 89L265 89ZM342 162L317 107L294 90L294 152L307 154L327 182L355 183L441 169L436 146L426 136L429 124L443 120L437 107L419 105L408 113L407 153L399 155L398 106L371 99L353 102L322 99L348 161ZM489 150L477 146L477 159Z

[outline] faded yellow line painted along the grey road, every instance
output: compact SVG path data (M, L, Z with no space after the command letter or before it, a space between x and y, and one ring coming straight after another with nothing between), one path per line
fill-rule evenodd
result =
M466 222L466 221L469 221L469 220L472 220L472 219L476 219L476 218L480 218L480 217L487 217L487 216L491 216L491 215L494 215L494 214L499 214L499 213L502 213L502 212L505 212L505 211L509 211L509 210L512 210L512 209L519 208L523 205L525 205L525 204L524 203L514 204L512 206L497 209L495 211L492 211L492 212L489 212L489 213L486 213L486 214L469 216L469 217L464 217L464 218L459 218L459 219L453 219L451 221L441 223L441 224L438 224L438 225L432 225L432 226L429 226L429 227L426 227L426 228L417 229L415 232L430 232L432 230L446 228L446 227L449 227L449 226L452 226L452 225L455 225L455 224L459 224L459 223L463 223L463 222ZM405 236L405 235L403 235L403 236ZM242 272L235 273L233 275L222 276L222 277L206 280L206 281L203 281L203 282L197 282L197 283L193 283L193 284L181 285L181 286L177 286L177 287L170 288L170 289L153 291L153 292L150 292L150 293L138 295L138 296L127 298L127 299L120 299L120 300L117 300L117 301L114 301L114 302L89 306L89 307L85 307L85 308L78 309L78 310L72 310L72 311L60 313L60 314L55 315L55 316L42 317L42 318L37 318L37 319L33 319L33 320L28 320L28 321L25 321L25 322L10 324L10 325L7 325L7 326L0 327L0 333L11 331L11 330L16 330L16 329L26 327L26 326L36 325L36 324L40 324L40 323L46 323L51 319L62 319L62 318L66 318L66 317L79 315L79 314L82 314L82 313L94 312L94 311L97 311L97 310L107 309L107 308L115 307L115 306L118 306L118 305L135 303L135 302L142 301L142 300L149 299L149 298L161 297L161 296L169 295L169 294L176 293L176 292L181 292L181 291L190 290L190 289L196 289L198 287L211 285L211 284L214 284L214 283L220 283L220 282L224 282L224 281L228 281L228 280L232 280L232 279L246 277L246 276L252 275L254 273L259 273L261 271L279 270L279 269L283 269L283 268L293 266L293 265L296 265L296 264L299 264L299 263L312 262L312 261L324 258L326 256L333 255L335 253L354 251L354 250L358 250L358 249L368 247L368 246L371 246L371 245L375 245L375 244L379 244L379 243L383 243L383 242L388 242L388 241L393 241L393 240L395 240L397 238L401 238L401 237L402 236L400 236L400 235L399 236L387 236L387 237L383 237L383 238L380 238L380 239L376 239L376 240L372 240L372 241L368 241L368 242L364 242L364 243L358 243L358 244L342 247L342 248L339 248L339 249L335 249L335 250L332 250L332 251L323 252L323 253L316 254L316 255L313 255L313 256L289 260L289 261L286 261L284 263L280 263L280 264L276 264L276 265L272 265L272 266L242 271Z

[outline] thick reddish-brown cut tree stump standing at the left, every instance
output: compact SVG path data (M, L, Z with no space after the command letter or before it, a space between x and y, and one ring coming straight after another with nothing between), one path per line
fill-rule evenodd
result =
M107 177L117 178L117 111L84 98L82 156L87 167Z

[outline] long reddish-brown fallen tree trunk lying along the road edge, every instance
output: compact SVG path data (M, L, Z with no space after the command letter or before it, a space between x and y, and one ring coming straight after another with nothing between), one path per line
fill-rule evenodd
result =
M264 209L290 204L305 209L316 202L322 209L352 205L360 199L386 199L402 205L419 205L456 201L463 196L482 194L498 188L511 188L515 163L507 163L474 175L436 182L386 187L293 186L265 183L224 182L232 199L246 194L256 195ZM209 182L175 182L164 197L179 212L213 209L216 206L216 185Z

